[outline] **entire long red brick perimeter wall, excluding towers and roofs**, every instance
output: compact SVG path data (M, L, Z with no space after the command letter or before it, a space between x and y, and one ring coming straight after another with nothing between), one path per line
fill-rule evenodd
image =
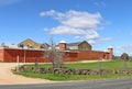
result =
M35 58L37 58L40 63L52 62L51 58L44 57L44 51L14 49L14 48L0 49L0 60L2 62L16 62L18 56L21 63L24 62L33 63ZM99 58L108 59L109 53L97 51L81 51L81 52L65 52L64 54L64 62L96 60Z

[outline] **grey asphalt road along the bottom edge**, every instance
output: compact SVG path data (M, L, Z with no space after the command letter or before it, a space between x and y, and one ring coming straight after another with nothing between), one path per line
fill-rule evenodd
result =
M66 81L35 85L1 85L0 89L132 89L132 79Z

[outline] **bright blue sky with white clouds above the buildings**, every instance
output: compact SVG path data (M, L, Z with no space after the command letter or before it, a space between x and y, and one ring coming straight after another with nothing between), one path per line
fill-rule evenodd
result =
M0 43L88 41L132 55L132 0L0 0Z

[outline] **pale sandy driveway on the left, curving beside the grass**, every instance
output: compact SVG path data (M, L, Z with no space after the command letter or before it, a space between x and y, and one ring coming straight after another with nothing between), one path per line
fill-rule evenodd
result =
M11 69L13 69L15 66L16 66L16 63L0 63L0 85L53 82L46 79L37 79L37 78L33 79L33 78L19 76L19 75L13 75Z

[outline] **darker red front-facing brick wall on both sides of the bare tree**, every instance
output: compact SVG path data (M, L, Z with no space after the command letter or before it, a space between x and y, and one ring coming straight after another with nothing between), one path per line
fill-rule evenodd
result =
M40 63L48 63L52 62L51 58L44 57L44 51L33 51L33 49L13 49L13 48L4 48L4 56L1 56L3 62L16 62L19 56L19 62L21 63L33 63L35 58ZM3 58L4 57L4 58ZM64 62L76 62L77 53L66 52L64 54Z

